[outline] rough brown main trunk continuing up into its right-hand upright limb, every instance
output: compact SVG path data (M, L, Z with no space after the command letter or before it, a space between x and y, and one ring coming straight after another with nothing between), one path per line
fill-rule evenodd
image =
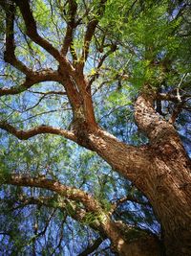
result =
M138 97L136 119L150 139L149 198L161 223L167 255L191 255L191 163L175 128L153 109L151 95Z

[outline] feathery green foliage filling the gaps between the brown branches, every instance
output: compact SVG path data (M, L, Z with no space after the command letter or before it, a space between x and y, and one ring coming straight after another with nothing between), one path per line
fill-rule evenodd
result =
M135 146L148 143L145 134L138 130L133 115L135 99L144 84L150 84L156 92L180 94L182 99L190 94L191 39L187 17L190 7L185 1L175 2L108 0L101 15L99 1L76 1L75 17L80 22L74 31L68 58L73 61L76 54L77 61L81 61L79 57L86 48L83 38L87 24L98 19L84 68L86 77L95 79L92 93L96 120L117 138ZM70 1L37 0L31 1L31 7L39 35L61 50L71 18ZM3 9L0 11L0 47L3 53L6 47L5 13ZM16 58L35 71L56 70L57 61L26 35L18 9L15 16ZM6 63L2 54L0 58L1 88L22 84L25 76ZM104 61L99 67L102 58ZM9 121L19 129L39 125L70 129L73 116L67 96L48 94L48 91L63 91L63 86L56 81L37 82L18 95L3 96L0 101L1 121ZM186 107L175 126L190 152L190 98L185 101ZM176 106L177 103L162 101L159 111L168 120ZM38 135L21 142L1 130L0 141L1 174L46 175L90 193L107 213L119 198L133 198L135 200L127 199L117 206L113 219L159 235L159 222L147 198L95 152L55 135ZM54 197L50 191L2 185L0 196L0 252L3 255L13 255L12 251L15 255L27 255L32 251L36 255L78 255L98 237L96 230L90 228L98 219L92 213L80 223L74 220L69 206L65 209L54 207L56 199L51 206L25 204L24 198ZM83 209L80 203L77 207ZM108 244L110 242L106 240L100 245L99 254L95 252L93 255L112 255Z

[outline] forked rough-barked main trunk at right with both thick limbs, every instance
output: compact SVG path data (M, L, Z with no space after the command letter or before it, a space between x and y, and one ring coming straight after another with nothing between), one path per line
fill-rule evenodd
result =
M136 120L150 139L148 146L127 146L101 128L87 130L84 144L150 200L161 224L166 255L191 255L190 160L175 128L153 109L151 95L149 100L138 97Z

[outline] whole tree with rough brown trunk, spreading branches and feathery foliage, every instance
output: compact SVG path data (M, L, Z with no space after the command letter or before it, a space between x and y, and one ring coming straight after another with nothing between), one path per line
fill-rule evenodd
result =
M13 212L30 205L39 210L42 219L31 216L32 254L37 254L41 245L35 241L58 218L58 210L60 230L69 216L100 235L81 255L105 239L119 255L191 255L190 159L178 133L190 136L184 130L190 118L190 4L14 0L0 5L2 202L7 213L12 206ZM124 139L125 118L134 132ZM80 148L63 138L88 150L83 168L76 164L80 172L71 184L60 167L63 159L75 161L71 155ZM95 152L116 179L105 174L108 166L101 167L103 162L96 162L102 168L98 176L94 166L91 173L84 170L94 164ZM102 194L90 189L91 175ZM123 194L114 184L117 179L126 182L129 193L109 203L114 197L106 185L117 196ZM157 227L155 234L149 224L131 221L122 211L127 201L138 203L145 216L153 208L161 230ZM53 210L50 216L42 207ZM151 226L157 226L154 221L152 215ZM4 244L18 233L16 227L5 231L8 226L2 231ZM20 234L17 245L22 240ZM57 248L62 240L60 231ZM56 247L49 254L55 252Z

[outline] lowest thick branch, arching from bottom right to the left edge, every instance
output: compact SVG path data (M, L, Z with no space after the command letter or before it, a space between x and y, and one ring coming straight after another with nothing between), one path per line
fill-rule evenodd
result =
M95 220L95 222L93 220L91 224L95 223L94 225L96 225L96 228L98 227L98 230L101 231L101 233L103 232L105 236L111 239L115 251L119 252L121 255L124 253L130 253L130 255L136 256L139 255L137 253L138 251L142 251L140 254L142 256L158 255L157 252L159 250L159 241L156 237L154 237L152 234L147 234L143 230L137 230L137 233L135 234L135 229L133 226L128 226L121 222L118 223L116 221L111 221L108 214L104 212L96 199L79 189L65 186L58 181L44 177L6 174L1 175L1 179L3 184L44 188L55 192L61 197L74 200L76 203L81 202L87 212L93 213L93 217L95 215L97 217L97 221ZM73 205L71 206L73 207ZM82 212L82 221L84 220L84 214L86 215L86 212ZM132 232L134 233L134 238L137 238L136 240L132 240ZM142 243L147 243L150 245L143 249ZM148 251L150 254L148 254Z

